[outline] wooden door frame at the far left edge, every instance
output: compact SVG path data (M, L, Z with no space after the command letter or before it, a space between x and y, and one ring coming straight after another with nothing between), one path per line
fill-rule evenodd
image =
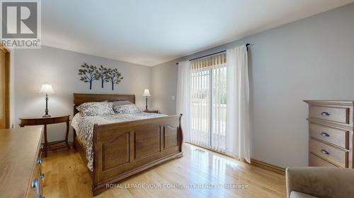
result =
M0 50L5 54L5 128L10 128L10 50L3 44Z

